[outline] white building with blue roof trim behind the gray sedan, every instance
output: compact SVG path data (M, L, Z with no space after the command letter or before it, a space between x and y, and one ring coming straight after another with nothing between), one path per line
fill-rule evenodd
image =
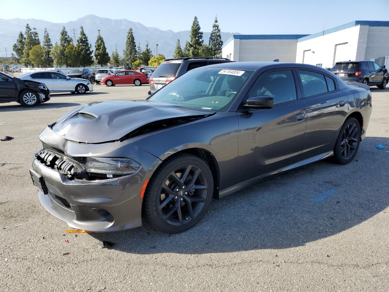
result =
M348 60L389 65L389 21L353 21L313 35L232 35L222 55L234 61L279 59L321 67Z

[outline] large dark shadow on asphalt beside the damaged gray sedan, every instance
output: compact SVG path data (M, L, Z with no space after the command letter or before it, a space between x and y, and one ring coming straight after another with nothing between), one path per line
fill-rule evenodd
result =
M389 138L366 137L348 165L329 158L213 200L205 217L181 234L157 232L145 223L90 235L114 243L115 250L137 254L303 246L359 225L389 206L389 146L379 150L377 144L389 145Z

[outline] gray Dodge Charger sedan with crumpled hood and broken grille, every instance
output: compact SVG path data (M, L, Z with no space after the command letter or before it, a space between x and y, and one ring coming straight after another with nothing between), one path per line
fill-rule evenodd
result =
M194 69L147 100L84 104L40 134L30 169L42 206L70 227L179 233L221 198L332 157L351 162L371 93L322 68L236 62Z

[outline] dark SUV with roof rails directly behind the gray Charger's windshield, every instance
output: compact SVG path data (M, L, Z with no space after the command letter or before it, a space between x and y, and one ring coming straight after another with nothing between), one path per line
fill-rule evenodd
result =
M189 70L226 62L234 61L231 61L227 58L218 57L186 57L178 59L167 59L163 61L151 74L151 77L149 78L149 95Z

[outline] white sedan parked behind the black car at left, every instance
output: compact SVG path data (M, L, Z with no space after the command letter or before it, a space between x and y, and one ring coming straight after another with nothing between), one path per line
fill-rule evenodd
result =
M32 79L46 84L50 92L86 93L93 91L93 84L81 78L71 78L57 71L30 72L18 76L19 79Z

